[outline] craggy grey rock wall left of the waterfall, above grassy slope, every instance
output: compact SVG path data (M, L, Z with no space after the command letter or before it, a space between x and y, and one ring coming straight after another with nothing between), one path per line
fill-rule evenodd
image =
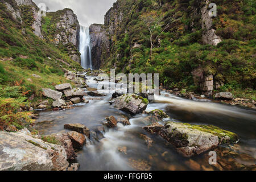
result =
M36 36L57 46L64 47L73 61L80 63L79 31L77 16L70 9L40 14L38 6L31 0L2 0L7 10L20 24L26 23Z

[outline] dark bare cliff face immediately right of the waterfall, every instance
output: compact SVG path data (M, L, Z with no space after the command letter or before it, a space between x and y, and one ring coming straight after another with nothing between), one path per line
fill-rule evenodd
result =
M90 30L90 44L92 46L93 69L100 69L109 55L109 37L102 24L92 24Z

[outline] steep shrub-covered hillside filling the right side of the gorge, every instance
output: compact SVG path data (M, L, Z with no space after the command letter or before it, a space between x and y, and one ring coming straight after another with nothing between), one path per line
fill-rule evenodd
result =
M104 25L90 27L94 68L159 73L167 89L255 99L255 3L214 3L211 18L209 1L118 0Z

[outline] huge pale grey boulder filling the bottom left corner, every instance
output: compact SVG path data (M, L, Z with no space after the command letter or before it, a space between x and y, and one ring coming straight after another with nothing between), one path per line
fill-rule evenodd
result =
M23 132L0 131L0 171L62 171L69 166L62 146Z

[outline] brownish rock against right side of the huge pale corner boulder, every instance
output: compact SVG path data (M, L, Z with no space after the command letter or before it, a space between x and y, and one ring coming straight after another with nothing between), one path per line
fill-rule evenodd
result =
M75 160L77 158L77 154L73 148L73 144L71 142L71 139L68 137L67 133L55 133L46 136L46 138L48 137L53 138L57 144L60 144L65 148L68 160Z

